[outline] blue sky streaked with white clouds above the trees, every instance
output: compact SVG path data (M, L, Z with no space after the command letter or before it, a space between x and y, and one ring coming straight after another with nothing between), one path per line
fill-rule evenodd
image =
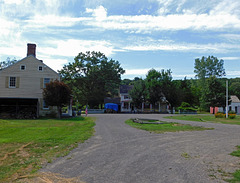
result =
M22 59L27 43L54 69L80 52L119 61L122 79L171 69L194 78L202 56L224 60L227 78L240 77L239 0L0 0L0 61Z

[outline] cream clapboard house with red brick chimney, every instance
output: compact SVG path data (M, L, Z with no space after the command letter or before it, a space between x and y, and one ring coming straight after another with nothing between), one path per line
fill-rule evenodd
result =
M27 57L0 70L0 118L35 118L56 111L42 95L46 84L56 79L59 74L36 58L36 44L27 44Z

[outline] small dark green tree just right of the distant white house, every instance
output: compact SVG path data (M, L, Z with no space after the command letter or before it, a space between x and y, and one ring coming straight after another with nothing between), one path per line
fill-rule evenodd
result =
M142 79L135 81L133 88L131 89L129 94L132 98L132 103L137 108L141 108L141 104L144 101L146 101L146 98L147 98L147 90L146 90L145 81Z

